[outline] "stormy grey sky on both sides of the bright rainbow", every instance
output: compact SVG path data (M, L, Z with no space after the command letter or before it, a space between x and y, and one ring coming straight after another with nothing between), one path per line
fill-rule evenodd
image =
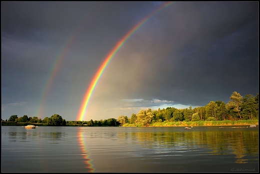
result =
M77 119L107 54L162 2L1 2L1 118ZM258 92L258 2L174 2L113 56L84 121Z

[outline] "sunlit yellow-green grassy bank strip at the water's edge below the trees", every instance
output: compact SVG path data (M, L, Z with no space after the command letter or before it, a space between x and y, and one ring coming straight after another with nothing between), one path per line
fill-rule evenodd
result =
M250 126L258 125L258 120L225 120L225 121L198 121L198 122L156 122L149 127L174 127L174 126ZM141 125L125 124L125 127L141 127Z

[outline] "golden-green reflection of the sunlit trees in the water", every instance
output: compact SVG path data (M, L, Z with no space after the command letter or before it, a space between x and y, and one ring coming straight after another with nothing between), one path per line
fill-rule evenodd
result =
M200 155L235 155L238 164L250 163L246 156L258 159L258 132L243 128L243 131L232 131L232 128L218 131L183 131L183 132L131 132L118 133L120 139L131 139L133 143L153 149L154 153L201 151ZM250 142L250 143L248 143ZM203 151L201 150L203 149ZM172 154L173 153L173 154Z

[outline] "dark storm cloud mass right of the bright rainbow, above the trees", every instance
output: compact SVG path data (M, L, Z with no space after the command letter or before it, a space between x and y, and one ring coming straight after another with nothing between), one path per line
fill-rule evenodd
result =
M122 74L107 83L117 84L117 94L127 89L128 98L187 105L256 94L257 30L257 3L176 2L129 40L128 54L114 60Z

